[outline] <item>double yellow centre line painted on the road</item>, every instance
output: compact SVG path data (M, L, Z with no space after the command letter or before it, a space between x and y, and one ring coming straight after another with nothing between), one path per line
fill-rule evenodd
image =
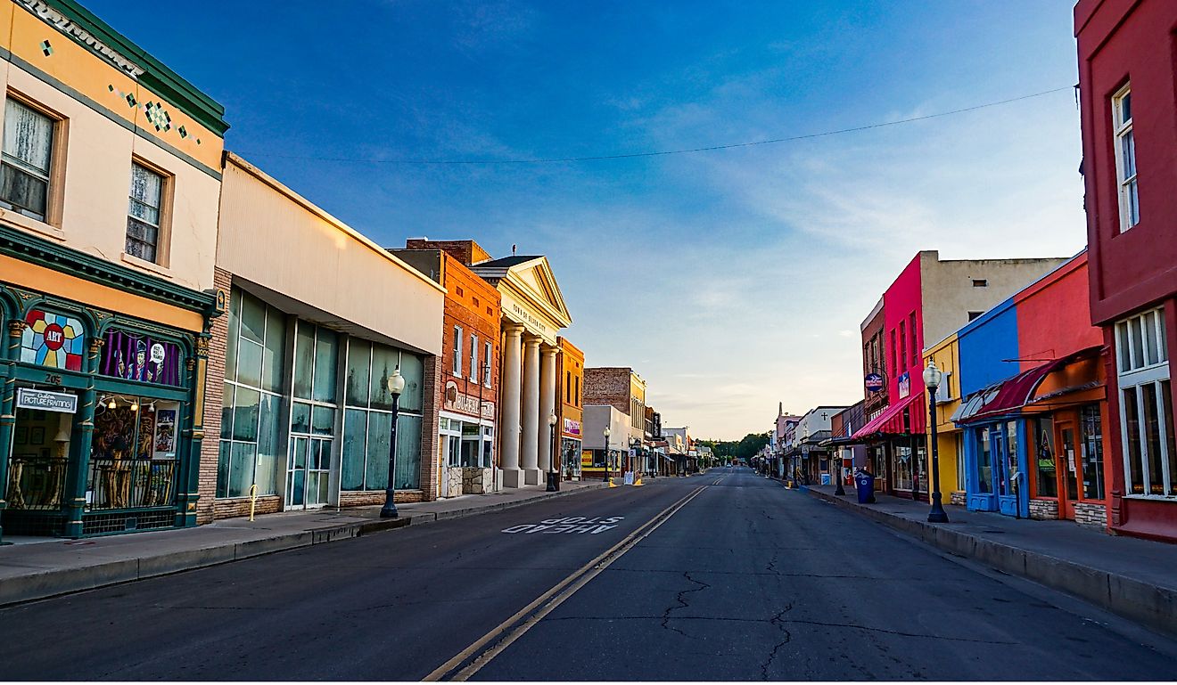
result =
M434 680L466 680L477 673L491 659L499 656L503 650L511 646L517 639L524 636L537 623L544 619L564 600L576 595L577 590L584 587L590 580L596 578L610 564L621 558L621 555L630 551L638 543L652 533L659 525L666 523L679 509L694 499L699 492L706 490L706 485L700 485L689 492L678 502L663 509L653 518L641 524L637 530L621 538L621 542L600 553L597 558L580 566L566 578L557 583L551 590L537 597L531 604L520 609L514 616L504 620L491 632L478 638L472 645L458 652L452 659L438 666L432 673L423 678L423 681ZM467 663L468 662L468 663ZM458 670L459 666L465 667Z

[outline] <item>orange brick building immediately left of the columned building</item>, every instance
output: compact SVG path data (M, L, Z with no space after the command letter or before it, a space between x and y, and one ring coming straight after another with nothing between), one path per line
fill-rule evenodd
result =
M410 240L406 244L420 244ZM472 241L444 241L434 249L393 254L445 288L441 381L438 384L438 496L494 489L494 441L499 376L498 290L463 260L487 255Z

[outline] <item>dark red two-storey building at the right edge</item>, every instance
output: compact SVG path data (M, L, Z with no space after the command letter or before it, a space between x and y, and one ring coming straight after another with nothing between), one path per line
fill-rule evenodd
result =
M1106 362L1111 526L1177 540L1177 102L1166 0L1075 6L1091 321ZM1139 145L1137 145L1139 143Z

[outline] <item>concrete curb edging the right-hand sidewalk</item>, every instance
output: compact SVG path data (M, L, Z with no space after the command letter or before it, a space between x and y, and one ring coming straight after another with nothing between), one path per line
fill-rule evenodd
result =
M951 555L1073 595L1159 632L1177 634L1177 590L1005 545L947 526L895 516L827 492L809 490L809 493Z

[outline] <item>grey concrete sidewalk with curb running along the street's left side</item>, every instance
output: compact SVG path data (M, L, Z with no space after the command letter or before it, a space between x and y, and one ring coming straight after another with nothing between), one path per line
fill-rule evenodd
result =
M226 518L186 529L68 540L6 538L0 546L0 606L115 583L247 559L281 550L359 537L379 530L460 518L587 492L601 482L563 482L490 495L463 495L437 502L398 504L398 518L380 518L379 506L287 511Z

